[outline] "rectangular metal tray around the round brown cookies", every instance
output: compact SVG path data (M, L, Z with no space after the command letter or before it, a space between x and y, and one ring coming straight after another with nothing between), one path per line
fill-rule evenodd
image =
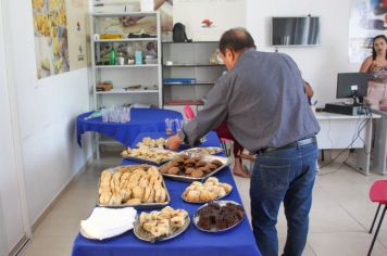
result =
M178 156L178 155L177 155ZM200 178L195 178L195 177L190 177L190 176L185 176L185 175L170 175L170 174L163 174L160 171L160 174L168 179L173 179L173 180L178 180L178 181L185 181L185 182L194 182L194 181L203 181L207 178L215 175L217 171L220 171L221 169L223 169L224 167L228 166L228 158L227 157L223 157L223 156L215 156L215 155L203 155L203 154L190 154L190 156L199 156L201 161L204 162L211 162L214 159L217 159L220 162L223 163L223 165L216 169L214 169L213 171L204 175L203 177ZM166 163L167 164L167 163ZM164 164L164 165L166 165ZM162 165L162 166L164 166ZM162 167L160 166L159 169Z

